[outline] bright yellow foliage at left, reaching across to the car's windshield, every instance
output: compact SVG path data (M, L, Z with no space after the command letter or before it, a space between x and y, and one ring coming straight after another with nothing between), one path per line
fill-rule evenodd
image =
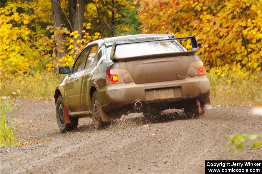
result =
M62 3L61 6L66 4ZM37 77L40 71L54 71L60 65L72 66L81 49L100 38L100 33L89 36L84 31L83 39L76 40L80 36L78 31L70 33L66 27L54 28L52 25L43 28L41 23L52 23L51 2L45 0L10 1L0 10L1 76L5 72L6 77L25 73ZM91 23L84 25L91 27ZM59 45L67 48L65 56L60 59L53 53L57 34L65 36Z

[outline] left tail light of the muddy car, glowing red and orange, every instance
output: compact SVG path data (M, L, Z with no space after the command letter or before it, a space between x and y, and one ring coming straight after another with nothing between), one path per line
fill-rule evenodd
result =
M121 68L108 68L106 71L106 78L109 83L130 83L133 81L129 71Z

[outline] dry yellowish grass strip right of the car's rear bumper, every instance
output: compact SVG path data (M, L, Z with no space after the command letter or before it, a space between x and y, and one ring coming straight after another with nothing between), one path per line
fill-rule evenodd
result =
M254 107L262 103L262 80L251 81L217 77L208 73L210 100L214 106ZM228 83L230 81L230 83Z

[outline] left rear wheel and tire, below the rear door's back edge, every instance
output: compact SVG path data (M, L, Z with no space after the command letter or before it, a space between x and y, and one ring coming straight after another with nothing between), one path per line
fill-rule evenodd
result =
M102 129L107 125L107 122L103 122L99 108L100 105L100 99L98 97L97 92L95 91L92 96L92 118L93 118L93 124L97 129Z

